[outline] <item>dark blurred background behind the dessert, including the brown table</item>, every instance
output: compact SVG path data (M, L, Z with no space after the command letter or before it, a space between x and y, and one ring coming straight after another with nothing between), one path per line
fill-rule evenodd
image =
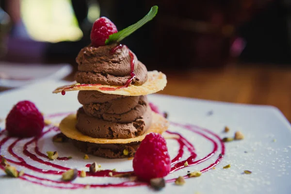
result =
M32 79L27 68L69 64L73 81L98 17L121 30L153 5L155 19L122 43L167 75L160 93L273 105L291 121L291 0L0 0L0 91Z

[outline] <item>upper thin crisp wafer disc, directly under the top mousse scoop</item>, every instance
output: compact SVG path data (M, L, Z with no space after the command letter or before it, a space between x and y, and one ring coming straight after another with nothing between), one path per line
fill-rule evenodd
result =
M77 83L78 84L78 83ZM129 85L129 87L119 88L116 90L102 90L102 87L118 87L111 85L98 85L98 84L79 84L79 85L65 85L55 89L52 93L60 93L62 91L76 91L76 90L97 90L105 94L115 94L123 96L143 96L148 94L156 93L162 89L167 84L166 75L158 71L148 71L147 81L143 85Z

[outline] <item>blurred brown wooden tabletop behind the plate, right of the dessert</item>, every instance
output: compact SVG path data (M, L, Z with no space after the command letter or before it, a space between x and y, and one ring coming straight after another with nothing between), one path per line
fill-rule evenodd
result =
M291 67L227 65L166 74L168 83L160 94L272 105L291 122Z

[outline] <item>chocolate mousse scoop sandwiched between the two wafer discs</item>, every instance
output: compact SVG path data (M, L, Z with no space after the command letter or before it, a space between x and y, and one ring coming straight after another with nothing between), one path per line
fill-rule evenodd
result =
M146 96L128 97L98 91L79 91L83 105L77 112L76 128L95 138L128 139L140 136L151 125Z

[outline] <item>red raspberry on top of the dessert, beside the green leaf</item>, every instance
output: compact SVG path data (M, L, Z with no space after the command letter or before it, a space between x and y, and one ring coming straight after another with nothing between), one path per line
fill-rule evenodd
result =
M117 28L110 19L107 17L98 18L94 22L91 30L92 45L94 47L104 46L105 40L108 39L111 34L116 32L118 32Z

